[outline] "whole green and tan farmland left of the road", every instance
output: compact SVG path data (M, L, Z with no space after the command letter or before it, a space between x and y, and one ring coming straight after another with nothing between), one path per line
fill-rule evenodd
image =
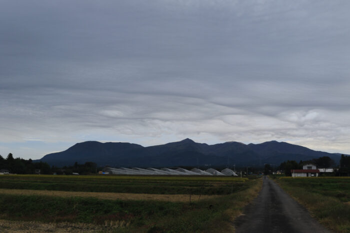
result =
M0 232L226 232L260 187L256 177L0 176Z

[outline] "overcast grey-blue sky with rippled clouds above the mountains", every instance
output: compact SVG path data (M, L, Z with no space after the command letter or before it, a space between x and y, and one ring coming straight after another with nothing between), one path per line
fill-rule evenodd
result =
M96 140L350 154L348 0L0 0L0 155Z

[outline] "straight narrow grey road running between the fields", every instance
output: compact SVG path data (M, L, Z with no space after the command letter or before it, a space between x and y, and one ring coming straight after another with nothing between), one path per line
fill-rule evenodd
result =
M234 222L237 233L330 233L276 183L262 179L259 196Z

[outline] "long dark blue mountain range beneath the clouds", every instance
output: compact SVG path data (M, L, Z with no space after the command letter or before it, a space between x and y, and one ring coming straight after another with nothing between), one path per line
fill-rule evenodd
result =
M340 156L313 151L285 142L264 142L245 145L225 142L215 145L196 143L188 138L164 145L142 147L131 143L77 143L65 151L45 155L40 161L54 166L69 166L75 162L95 162L112 167L172 167L172 166L263 166L279 165L285 160L310 160L329 156L335 162Z

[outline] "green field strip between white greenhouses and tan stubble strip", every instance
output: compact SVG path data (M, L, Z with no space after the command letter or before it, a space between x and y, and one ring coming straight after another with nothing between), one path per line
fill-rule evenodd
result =
M228 195L249 187L247 181L247 178L234 177L6 175L0 176L0 187L78 192Z

